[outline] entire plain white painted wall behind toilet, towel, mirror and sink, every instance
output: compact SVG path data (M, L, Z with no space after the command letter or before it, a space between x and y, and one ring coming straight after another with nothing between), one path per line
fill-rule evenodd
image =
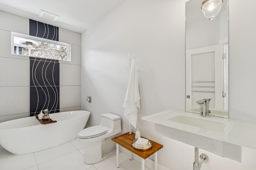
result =
M89 125L98 125L102 113L122 117L128 83L128 53L139 74L141 134L161 143L158 162L170 170L192 170L194 147L154 133L152 123L140 117L165 109L185 110L185 2L187 0L127 0L82 33L82 109L91 111ZM230 0L229 117L256 122L256 1ZM243 8L241 8L243 7ZM92 96L92 103L86 102ZM243 148L242 163L208 154L202 170L254 170L256 150ZM152 158L152 157L150 157Z

